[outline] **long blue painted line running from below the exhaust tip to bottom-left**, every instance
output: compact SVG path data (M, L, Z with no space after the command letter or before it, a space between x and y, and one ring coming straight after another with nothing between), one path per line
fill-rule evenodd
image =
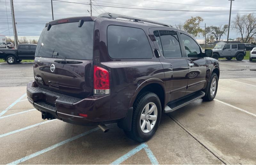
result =
M91 130L89 130L89 131L87 131L87 132L81 133L81 134L79 134L79 135L77 135L77 136L74 136L74 137L69 138L69 139L67 139L67 140L61 141L60 143L54 144L54 145L52 145L52 146L50 146L50 147L47 147L47 148L45 148L45 149L43 149L43 150L41 150L41 151L35 152L34 154L30 154L30 155L28 155L28 156L25 156L25 157L23 157L23 158L20 158L20 159L18 159L18 160L16 160L16 161L13 161L13 162L9 163L9 164L19 164L19 163L21 163L21 162L23 162L23 161L27 161L28 159L34 158L34 157L36 157L36 156L38 156L38 155L40 155L40 154L44 154L44 153L47 152L47 151L50 151L50 150L52 150L52 149L54 149L54 148L56 148L56 147L60 147L61 145L66 144L66 143L68 143L68 142L70 142L70 141L73 141L73 140L76 140L76 139L78 139L78 138L81 138L82 136L85 136L85 135L87 135L87 134L89 134L89 133L92 133L92 132L94 132L94 131L97 131L98 129L99 129L99 127L96 127L96 128L91 129Z

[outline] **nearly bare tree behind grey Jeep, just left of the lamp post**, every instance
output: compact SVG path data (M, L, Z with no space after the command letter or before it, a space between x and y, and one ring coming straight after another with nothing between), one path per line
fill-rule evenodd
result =
M216 41L219 41L223 34L228 31L228 25L206 27L206 32L212 34Z

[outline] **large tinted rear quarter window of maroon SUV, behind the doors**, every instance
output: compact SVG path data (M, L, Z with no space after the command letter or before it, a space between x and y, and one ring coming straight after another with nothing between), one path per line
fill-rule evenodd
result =
M145 32L139 28L109 25L108 54L113 59L148 59L153 57Z

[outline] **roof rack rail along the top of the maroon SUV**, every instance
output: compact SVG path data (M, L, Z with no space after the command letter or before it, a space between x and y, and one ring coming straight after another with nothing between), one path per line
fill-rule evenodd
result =
M124 18L124 19L133 19L134 22L141 22L141 23L149 23L149 24L155 24L155 25L161 25L161 26L167 26L167 27L172 27L171 25L156 22L156 21L151 21L147 19L141 19L141 18L136 18L136 17L130 17L130 16L125 16L121 14L115 14L115 13L102 13L98 17L106 17L106 18Z

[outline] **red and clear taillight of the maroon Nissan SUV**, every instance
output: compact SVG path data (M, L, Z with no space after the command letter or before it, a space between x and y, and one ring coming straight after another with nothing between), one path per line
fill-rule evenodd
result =
M108 70L94 65L93 89L94 89L94 94L97 94L97 95L109 94L110 82L109 82Z

